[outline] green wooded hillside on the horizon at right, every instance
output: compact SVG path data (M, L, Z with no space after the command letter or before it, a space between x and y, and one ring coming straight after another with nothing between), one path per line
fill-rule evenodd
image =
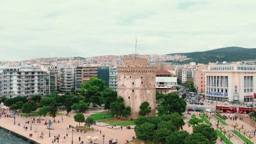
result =
M207 64L210 62L233 62L247 59L256 59L256 48L227 47L204 52L171 53L168 55L185 55L193 62ZM189 61L188 61L189 62Z

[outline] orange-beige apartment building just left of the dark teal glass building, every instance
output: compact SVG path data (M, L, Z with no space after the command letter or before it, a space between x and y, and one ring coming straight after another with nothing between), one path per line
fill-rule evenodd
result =
M82 83L83 82L88 82L91 77L98 77L98 68L100 66L98 65L88 65L88 66L83 66L82 69Z

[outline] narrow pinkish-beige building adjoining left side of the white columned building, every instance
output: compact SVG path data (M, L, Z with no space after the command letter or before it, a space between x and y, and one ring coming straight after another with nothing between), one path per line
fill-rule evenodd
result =
M196 70L196 76L194 80L197 94L203 94L205 92L205 77L204 71L207 70L207 65L199 65Z

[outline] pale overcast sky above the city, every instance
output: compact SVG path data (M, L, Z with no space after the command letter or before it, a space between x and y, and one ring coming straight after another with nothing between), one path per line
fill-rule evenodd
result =
M0 0L0 61L255 48L255 0Z

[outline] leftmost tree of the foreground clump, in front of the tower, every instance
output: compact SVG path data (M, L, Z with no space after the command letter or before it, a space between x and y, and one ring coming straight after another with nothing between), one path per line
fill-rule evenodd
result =
M153 140L155 135L154 131L155 125L152 123L143 123L140 126L135 126L134 131L138 140L144 140L147 144L147 140Z

